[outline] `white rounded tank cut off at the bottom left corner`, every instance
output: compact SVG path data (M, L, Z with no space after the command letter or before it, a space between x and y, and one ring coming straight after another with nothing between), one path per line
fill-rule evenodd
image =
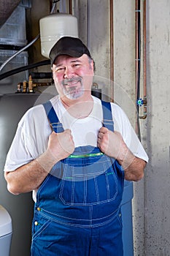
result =
M7 210L0 206L0 253L9 256L12 239L12 219Z

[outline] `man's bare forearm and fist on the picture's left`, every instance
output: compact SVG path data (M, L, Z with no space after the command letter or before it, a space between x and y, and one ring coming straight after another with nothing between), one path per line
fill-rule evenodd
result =
M69 157L73 151L74 142L69 129L61 133L52 132L47 150L42 155L26 165L4 174L9 192L18 195L38 189L53 165L61 159Z

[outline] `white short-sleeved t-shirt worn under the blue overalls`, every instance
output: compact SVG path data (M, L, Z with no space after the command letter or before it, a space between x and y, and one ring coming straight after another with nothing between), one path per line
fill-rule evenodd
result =
M63 124L63 129L71 129L74 146L97 145L98 130L102 127L101 100L93 97L94 105L90 115L86 118L77 119L66 111L59 96L50 99L53 108ZM131 152L141 159L148 161L148 157L142 144L131 127L128 117L123 110L112 104L112 118L114 129L123 136ZM42 105L36 105L29 109L21 118L15 138L7 154L4 171L12 171L22 165L26 165L45 152L47 142L52 129Z

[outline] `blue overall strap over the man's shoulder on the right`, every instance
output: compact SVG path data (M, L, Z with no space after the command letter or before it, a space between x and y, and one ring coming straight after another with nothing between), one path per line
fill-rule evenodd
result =
M103 108L103 126L114 132L114 122L112 120L112 108L110 102L101 100Z

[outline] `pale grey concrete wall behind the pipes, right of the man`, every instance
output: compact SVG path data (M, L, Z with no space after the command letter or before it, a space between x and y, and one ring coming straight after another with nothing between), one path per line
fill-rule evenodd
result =
M95 79L105 91L110 77L109 1L74 2L74 13L80 18L80 38L88 43L96 61ZM113 2L115 102L122 106L135 127L135 1ZM141 3L143 7L143 1ZM147 118L140 120L140 127L142 143L150 162L144 179L134 184L136 256L168 256L170 252L169 7L169 0L147 1L148 112ZM109 89L107 93L109 94ZM141 113L142 111L143 109L140 110Z

